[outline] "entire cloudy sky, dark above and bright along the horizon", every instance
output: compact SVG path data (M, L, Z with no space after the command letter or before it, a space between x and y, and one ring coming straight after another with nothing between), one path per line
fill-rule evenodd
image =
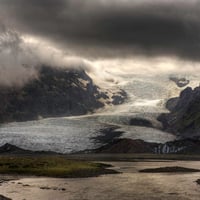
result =
M156 74L199 62L200 0L0 0L0 84L41 64Z

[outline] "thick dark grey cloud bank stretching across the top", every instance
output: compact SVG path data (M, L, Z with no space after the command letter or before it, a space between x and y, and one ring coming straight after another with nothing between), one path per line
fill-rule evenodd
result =
M84 56L200 58L198 0L0 0L0 19Z

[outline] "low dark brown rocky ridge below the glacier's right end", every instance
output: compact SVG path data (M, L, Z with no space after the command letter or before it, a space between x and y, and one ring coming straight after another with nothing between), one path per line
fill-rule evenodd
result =
M139 139L115 139L95 153L199 154L200 140L175 140L162 144Z

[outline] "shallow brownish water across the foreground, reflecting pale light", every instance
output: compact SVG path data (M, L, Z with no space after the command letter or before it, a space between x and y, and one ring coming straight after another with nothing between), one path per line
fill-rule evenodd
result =
M200 173L139 173L145 168L182 166L199 161L104 162L121 174L93 178L22 177L4 182L0 194L13 200L199 200Z

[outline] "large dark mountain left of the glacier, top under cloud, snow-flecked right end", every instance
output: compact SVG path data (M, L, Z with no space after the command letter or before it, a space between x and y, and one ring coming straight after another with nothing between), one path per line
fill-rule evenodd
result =
M42 66L23 87L0 87L0 122L82 115L125 98L122 90L102 91L84 70Z

